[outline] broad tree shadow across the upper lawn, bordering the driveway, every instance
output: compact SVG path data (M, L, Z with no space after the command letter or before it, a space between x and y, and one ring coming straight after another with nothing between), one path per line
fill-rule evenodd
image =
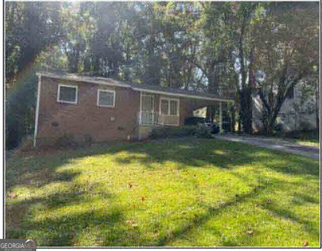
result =
M217 141L217 140L216 140ZM120 164L130 164L140 162L148 169L154 169L153 164L164 164L166 161L177 163L178 169L187 167L211 168L218 166L223 169L233 169L236 166L262 164L266 167L285 174L313 175L319 176L318 163L303 156L290 155L274 150L250 147L242 143L227 143L218 140L193 140L191 142L182 141L161 141L149 142L148 146L135 147L127 151L132 156L116 157ZM156 144L159 144L156 146ZM270 153L267 154L266 151ZM136 154L140 154L136 156ZM285 158L285 160L281 160ZM286 161L287 160L287 161Z

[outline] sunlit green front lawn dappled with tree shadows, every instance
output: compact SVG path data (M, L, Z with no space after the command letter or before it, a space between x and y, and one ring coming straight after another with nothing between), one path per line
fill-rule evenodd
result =
M319 166L217 139L7 162L7 238L38 246L319 246Z

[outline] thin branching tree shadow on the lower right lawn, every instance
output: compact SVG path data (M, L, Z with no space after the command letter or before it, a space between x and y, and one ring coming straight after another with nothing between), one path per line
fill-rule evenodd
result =
M247 180L247 177L245 176L238 175L238 178L241 178L242 180ZM254 204L254 207L262 207L263 209L270 211L271 213L273 213L273 215L277 217L282 217L285 220L290 220L300 224L301 226L303 226L306 232L313 234L315 236L315 239L318 240L319 222L313 222L310 220L302 219L294 212L279 206L277 204L278 202L272 201L271 199L269 199L269 196L265 198L267 195L267 191L272 191L273 189L276 189L276 187L283 187L285 181L279 179L272 180L271 177L263 176L261 177L261 180L261 185L253 186L253 189L249 193L235 195L235 197L232 197L225 203L213 206L203 201L200 201L198 205L204 207L207 210L206 213L202 215L197 215L193 220L191 220L191 222L185 224L185 226L179 227L171 233L160 237L156 242L156 245L168 246L171 244L171 242L175 241L176 239L183 238L184 235L191 232L191 230L193 230L194 228L198 228L205 224L211 218L218 216L225 209L232 206L236 206L237 203L247 202L248 200L255 200L258 203L256 203L256 205ZM318 202L311 197L308 198L307 196L305 196L305 199L310 203L318 204ZM214 231L214 228L212 228L212 231ZM221 229L215 229L215 232L219 235L222 234ZM234 239L231 239L226 236L221 240L220 243L217 243L217 245L214 246L247 246L246 243L248 243L248 240L250 240L250 238L256 236L257 234L259 234L259 232L257 232L256 229L251 233L251 235L247 234L247 232L240 232L238 235L235 236Z

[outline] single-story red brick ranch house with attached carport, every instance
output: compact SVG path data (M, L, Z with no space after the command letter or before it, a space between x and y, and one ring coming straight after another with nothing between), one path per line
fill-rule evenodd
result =
M90 135L94 142L143 139L155 126L183 125L196 109L219 105L221 115L222 102L233 102L111 78L49 72L37 76L34 146L40 138L56 139L67 133Z

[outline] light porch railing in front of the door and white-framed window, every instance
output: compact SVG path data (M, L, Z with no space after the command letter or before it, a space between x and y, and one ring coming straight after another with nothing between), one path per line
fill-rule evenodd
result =
M139 125L169 125L178 126L179 116L166 115L157 112L141 111L138 113Z

